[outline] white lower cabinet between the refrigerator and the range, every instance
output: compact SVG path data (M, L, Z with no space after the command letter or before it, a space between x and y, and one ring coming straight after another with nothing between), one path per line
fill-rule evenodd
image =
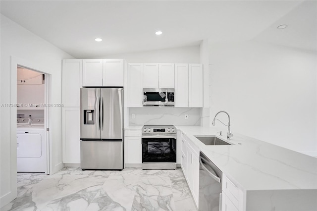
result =
M124 157L126 164L142 163L141 130L125 130Z

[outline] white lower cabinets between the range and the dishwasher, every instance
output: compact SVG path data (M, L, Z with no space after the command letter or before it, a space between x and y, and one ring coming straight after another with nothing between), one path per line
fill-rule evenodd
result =
M181 167L198 207L199 194L199 149L183 133L181 134Z

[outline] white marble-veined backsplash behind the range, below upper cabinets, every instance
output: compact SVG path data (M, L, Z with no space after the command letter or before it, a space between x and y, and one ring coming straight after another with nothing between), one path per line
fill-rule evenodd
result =
M132 114L135 115L134 119L132 119ZM188 119L185 119L185 114L188 114ZM131 107L129 115L129 124L200 125L201 115L202 108L196 107Z

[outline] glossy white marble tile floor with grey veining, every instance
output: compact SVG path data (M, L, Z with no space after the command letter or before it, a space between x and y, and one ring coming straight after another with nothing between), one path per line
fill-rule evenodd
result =
M197 211L181 168L18 173L18 196L1 211Z

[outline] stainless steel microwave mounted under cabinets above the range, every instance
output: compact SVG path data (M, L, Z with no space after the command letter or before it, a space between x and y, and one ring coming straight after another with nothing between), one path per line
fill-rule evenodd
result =
M143 89L143 106L174 105L174 89Z

